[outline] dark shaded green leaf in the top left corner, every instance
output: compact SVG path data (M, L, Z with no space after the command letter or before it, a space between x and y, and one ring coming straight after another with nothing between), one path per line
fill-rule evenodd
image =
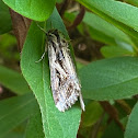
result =
M9 8L0 0L0 34L11 31L11 16Z

